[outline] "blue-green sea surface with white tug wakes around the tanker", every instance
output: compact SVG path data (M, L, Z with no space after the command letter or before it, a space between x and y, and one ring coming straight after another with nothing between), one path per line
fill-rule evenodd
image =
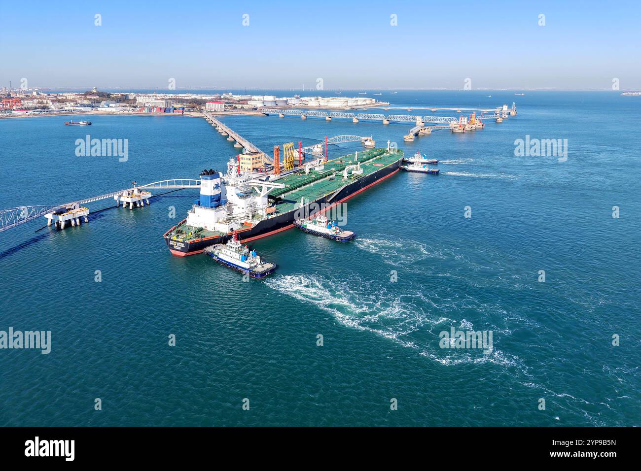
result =
M408 107L517 101L518 115L412 143L410 124L225 117L265 151L372 135L440 160L439 176L399 172L350 199L352 242L295 229L254 242L278 263L264 281L171 256L162 234L193 190L0 233L0 331L51 331L52 344L0 350L0 426L640 426L641 97L381 93ZM203 119L68 119L0 120L0 208L197 178L237 153ZM128 160L76 156L87 134L128 139ZM515 156L526 135L567 139L567 160ZM451 327L491 331L492 351L441 348Z

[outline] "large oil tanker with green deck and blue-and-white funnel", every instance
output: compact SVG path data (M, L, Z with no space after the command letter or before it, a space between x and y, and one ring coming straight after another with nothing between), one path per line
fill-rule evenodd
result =
M244 242L269 236L388 178L402 162L403 151L388 147L256 177L241 173L231 159L224 176L216 170L201 172L200 199L163 237L172 254L185 256L224 244L234 234Z

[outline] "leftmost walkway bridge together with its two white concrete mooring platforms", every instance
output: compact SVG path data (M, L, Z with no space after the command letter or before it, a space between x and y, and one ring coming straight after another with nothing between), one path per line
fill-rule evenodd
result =
M79 226L81 222L89 222L89 209L85 204L104 199L114 199L116 206L122 203L123 207L129 204L129 209L134 206L149 204L151 192L149 190L180 190L183 188L200 188L201 181L191 178L176 178L162 181L154 181L146 185L137 186L131 182L131 188L109 192L102 195L92 196L78 201L63 204L36 204L33 206L19 206L8 210L0 210L0 232L8 231L13 227L20 226L26 222L45 217L47 226L55 226L64 229L67 224Z

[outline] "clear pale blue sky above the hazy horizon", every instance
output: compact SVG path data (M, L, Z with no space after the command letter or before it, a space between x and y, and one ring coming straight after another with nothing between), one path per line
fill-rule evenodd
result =
M638 0L355 3L0 0L0 85L641 88Z

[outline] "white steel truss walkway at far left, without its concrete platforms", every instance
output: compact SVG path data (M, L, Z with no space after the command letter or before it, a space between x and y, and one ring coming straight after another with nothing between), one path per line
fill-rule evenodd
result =
M153 183L147 183L146 185L132 186L131 188L125 188L123 190L118 190L117 192L105 193L103 195L92 196L63 204L35 204L33 206L18 206L17 208L0 210L0 232L8 231L13 227L20 226L25 222L29 222L31 220L37 219L38 217L53 213L57 210L69 210L78 208L79 206L90 202L110 199L115 195L122 194L123 192L133 191L135 188L144 190L179 190L182 188L200 188L200 180L191 178L175 178L170 180L154 181Z

